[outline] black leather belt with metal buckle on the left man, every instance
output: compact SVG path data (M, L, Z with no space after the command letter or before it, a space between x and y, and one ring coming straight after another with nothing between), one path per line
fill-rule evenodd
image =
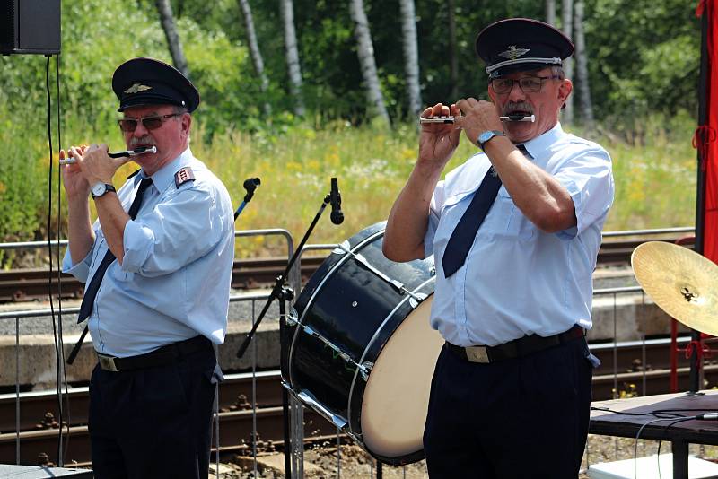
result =
M141 370L157 366L166 366L180 360L188 354L197 353L203 349L212 349L212 342L203 335L195 336L179 343L172 343L155 349L151 353L116 358L107 354L97 353L100 367L113 372L121 370Z

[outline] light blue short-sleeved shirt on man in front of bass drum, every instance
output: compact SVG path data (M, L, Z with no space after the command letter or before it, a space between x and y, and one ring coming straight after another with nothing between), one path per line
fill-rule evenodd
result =
M433 193L424 246L436 264L431 324L451 344L493 346L574 324L591 328L591 274L613 202L609 153L560 124L524 146L568 190L577 226L538 230L502 186L466 263L447 279L444 249L491 163L479 153L447 174Z

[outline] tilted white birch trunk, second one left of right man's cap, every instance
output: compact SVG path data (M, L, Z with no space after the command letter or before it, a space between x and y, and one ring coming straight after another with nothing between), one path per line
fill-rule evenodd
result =
M355 22L356 54L359 57L359 65L362 68L362 77L365 83L370 116L380 117L389 124L389 114L384 106L384 98L381 96L381 88L379 86L379 76L376 73L372 33L369 30L369 21L366 18L366 12L364 12L363 0L351 0L349 3L349 13L351 13L352 20Z

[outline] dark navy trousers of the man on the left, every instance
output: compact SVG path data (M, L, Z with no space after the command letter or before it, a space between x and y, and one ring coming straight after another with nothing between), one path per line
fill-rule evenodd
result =
M90 382L92 470L98 479L206 478L215 402L212 344L170 365Z

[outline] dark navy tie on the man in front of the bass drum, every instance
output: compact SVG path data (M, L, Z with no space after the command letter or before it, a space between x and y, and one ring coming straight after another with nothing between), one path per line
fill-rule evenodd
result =
M456 273L466 262L468 250L474 244L478 228L484 222L491 205L494 204L500 187L501 179L492 166L486 171L486 175L481 181L481 186L478 187L466 212L461 216L459 224L456 225L456 228L451 233L451 238L442 257L444 277L448 278L451 274Z

